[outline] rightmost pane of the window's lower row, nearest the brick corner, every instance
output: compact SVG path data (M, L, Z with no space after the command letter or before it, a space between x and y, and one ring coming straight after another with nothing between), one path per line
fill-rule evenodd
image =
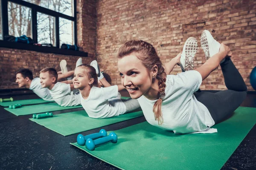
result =
M74 44L73 39L73 26L74 22L66 20L64 18L59 18L59 27L60 27L60 45L61 44Z

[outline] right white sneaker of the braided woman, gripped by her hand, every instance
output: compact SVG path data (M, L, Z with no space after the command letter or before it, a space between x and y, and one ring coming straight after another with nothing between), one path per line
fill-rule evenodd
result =
M201 46L204 50L205 58L209 59L220 51L221 44L212 37L208 30L204 30L201 34ZM224 61L225 59L221 63Z

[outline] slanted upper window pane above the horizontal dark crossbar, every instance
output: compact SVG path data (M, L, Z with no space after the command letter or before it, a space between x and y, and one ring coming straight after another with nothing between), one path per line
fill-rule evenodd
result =
M51 9L69 16L73 15L73 0L25 0L38 6Z

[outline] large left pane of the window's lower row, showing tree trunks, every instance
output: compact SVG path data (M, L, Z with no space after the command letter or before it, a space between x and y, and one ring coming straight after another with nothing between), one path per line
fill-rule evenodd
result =
M26 35L32 38L31 9L8 2L9 35L20 37Z

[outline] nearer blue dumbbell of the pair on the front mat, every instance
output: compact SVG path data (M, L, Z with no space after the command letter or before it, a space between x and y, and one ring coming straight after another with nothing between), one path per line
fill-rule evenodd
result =
M88 150L94 150L96 146L99 146L101 144L105 144L108 142L116 143L117 142L117 135L114 132L109 133L108 136L100 138L100 139L87 139L85 146Z

